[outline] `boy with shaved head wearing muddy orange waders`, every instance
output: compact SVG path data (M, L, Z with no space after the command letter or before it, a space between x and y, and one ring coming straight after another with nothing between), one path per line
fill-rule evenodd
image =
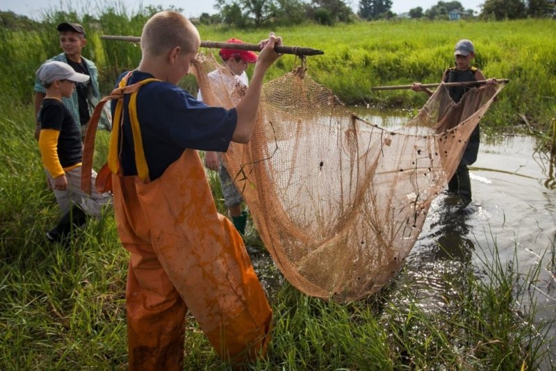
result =
M252 82L235 108L206 106L177 87L197 56L197 28L176 12L145 24L142 59L113 101L108 165L122 245L131 370L182 370L186 312L234 363L265 353L272 311L243 240L216 209L197 150L249 142L263 76L281 39L261 42ZM128 90L125 90L128 91Z

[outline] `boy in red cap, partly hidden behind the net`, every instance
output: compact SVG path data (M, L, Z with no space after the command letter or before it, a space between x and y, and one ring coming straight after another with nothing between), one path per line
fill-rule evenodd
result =
M230 39L227 42L244 44L244 42L239 39ZM249 64L256 62L256 54L252 51L240 49L220 49L218 54L220 58L222 58L224 65L234 74L236 80L247 88L249 80L247 79L245 71L247 67L249 67ZM222 79L225 77L222 76L218 70L215 70L208 74L208 78ZM197 93L197 100L203 100L200 90ZM234 181L232 181L227 168L222 162L222 156L220 156L218 152L206 151L204 165L210 170L218 171L220 186L222 187L222 194L224 195L224 205L226 205L229 210L229 215L232 222L234 222L234 226L243 236L245 233L245 224L247 223L247 212L241 210L243 197L236 186L234 186Z

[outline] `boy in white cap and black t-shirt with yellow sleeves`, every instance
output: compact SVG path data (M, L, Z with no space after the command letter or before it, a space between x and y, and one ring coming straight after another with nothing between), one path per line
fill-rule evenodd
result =
M70 110L62 102L63 97L72 95L75 83L84 83L89 76L79 74L67 63L59 61L44 63L36 75L46 91L38 115L41 123L38 145L63 214L58 225L47 232L47 238L60 241L74 224L81 226L85 223L86 214L99 216L102 206L111 201L111 196L97 192L89 196L81 191L81 133ZM93 183L95 179L96 173L93 172Z

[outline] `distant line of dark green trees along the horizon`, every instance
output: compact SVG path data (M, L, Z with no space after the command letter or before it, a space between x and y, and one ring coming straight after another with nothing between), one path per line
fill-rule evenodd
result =
M181 10L171 7L172 10ZM391 0L359 0L357 13L345 0L216 0L214 14L202 13L195 22L224 24L238 28L288 26L316 22L332 26L336 22L393 19ZM143 13L162 10L160 6L147 6ZM423 10L411 8L406 17L412 19L448 19L448 13L457 11L463 17L504 20L537 17L556 17L556 0L485 0L478 14L465 9L459 1L439 1ZM11 11L0 11L0 26L6 29L31 29L36 22Z

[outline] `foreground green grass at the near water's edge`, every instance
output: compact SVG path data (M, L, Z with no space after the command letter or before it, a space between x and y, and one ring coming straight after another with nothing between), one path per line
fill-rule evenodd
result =
M0 369L124 370L128 254L112 213L91 221L67 247L49 244L44 232L59 212L44 184L31 110L2 106L0 130ZM99 154L107 142L100 132ZM218 182L211 184L218 201ZM265 254L256 231L247 241L259 244L254 263L272 282L275 313L268 357L251 370L516 370L546 358L553 320L535 320L534 301L516 305L530 299L539 265L518 274L496 250L485 254L480 267L465 266L448 281L441 311L423 307L415 288L398 281L366 300L338 304L284 283L276 267L258 263ZM186 337L187 370L229 369L193 318Z

